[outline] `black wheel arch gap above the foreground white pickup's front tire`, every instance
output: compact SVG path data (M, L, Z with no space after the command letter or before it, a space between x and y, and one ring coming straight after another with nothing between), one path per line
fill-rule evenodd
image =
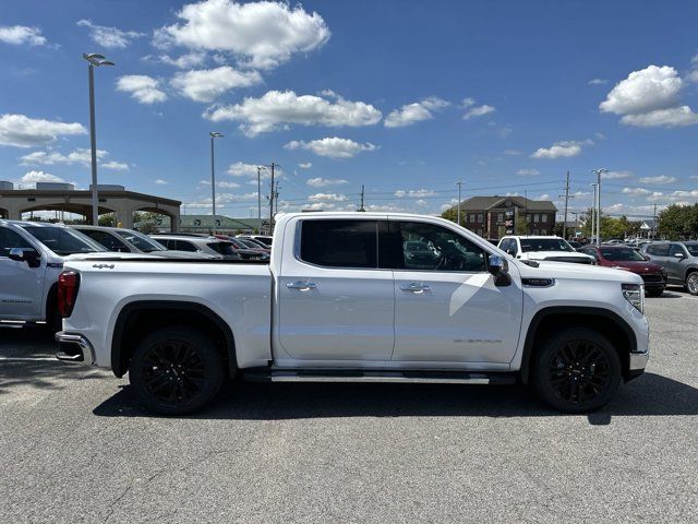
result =
M535 354L537 343L544 341L549 335L558 331L561 322L564 322L567 327L591 327L606 336L616 352L618 352L623 377L628 378L628 356L637 349L637 338L633 327L618 314L607 309L568 306L542 309L531 319L524 344L520 369L521 382L529 382L531 359Z

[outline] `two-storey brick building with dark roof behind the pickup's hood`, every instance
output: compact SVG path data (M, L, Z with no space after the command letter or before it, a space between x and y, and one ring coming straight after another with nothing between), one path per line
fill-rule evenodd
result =
M454 207L455 210L455 207ZM501 238L506 234L506 212L516 213L516 234L552 235L557 207L550 200L524 196L472 196L460 203L460 223L484 238ZM526 229L521 224L526 223ZM526 233L524 233L526 231Z

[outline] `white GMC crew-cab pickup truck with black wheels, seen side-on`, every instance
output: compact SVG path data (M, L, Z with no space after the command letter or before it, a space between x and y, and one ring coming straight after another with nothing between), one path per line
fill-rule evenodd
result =
M520 381L581 413L649 358L639 276L525 263L430 216L288 214L268 262L107 257L65 270L58 357L128 372L159 413L198 409L238 376Z

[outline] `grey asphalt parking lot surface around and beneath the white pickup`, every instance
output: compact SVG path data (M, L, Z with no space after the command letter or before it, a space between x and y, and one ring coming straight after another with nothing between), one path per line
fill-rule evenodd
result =
M152 416L0 326L0 522L696 522L698 298L647 300L647 372L588 416L522 386L252 384Z

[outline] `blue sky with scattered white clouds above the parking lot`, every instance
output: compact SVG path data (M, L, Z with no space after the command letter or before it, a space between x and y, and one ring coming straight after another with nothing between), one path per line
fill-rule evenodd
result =
M37 9L40 5L40 9ZM0 180L99 183L210 213L437 214L521 194L651 218L698 201L698 2L3 2ZM262 171L263 213L269 193Z

